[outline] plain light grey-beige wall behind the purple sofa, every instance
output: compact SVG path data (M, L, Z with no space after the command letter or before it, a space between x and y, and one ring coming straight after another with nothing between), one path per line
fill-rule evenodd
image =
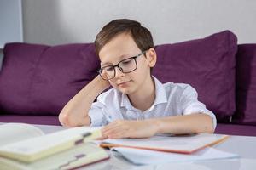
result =
M93 42L116 18L139 20L155 44L181 42L230 29L256 42L255 0L23 0L25 42Z

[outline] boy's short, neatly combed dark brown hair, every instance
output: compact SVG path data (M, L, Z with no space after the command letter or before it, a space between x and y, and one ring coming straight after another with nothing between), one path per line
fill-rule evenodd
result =
M112 20L97 34L95 40L96 54L99 55L100 50L106 45L113 37L120 33L131 33L131 37L136 42L137 47L141 51L154 48L153 37L147 28L141 25L136 20L119 19Z

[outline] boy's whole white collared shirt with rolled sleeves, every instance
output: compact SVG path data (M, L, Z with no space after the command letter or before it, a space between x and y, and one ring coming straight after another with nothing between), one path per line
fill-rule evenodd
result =
M127 95L115 88L100 94L89 110L90 126L104 126L119 119L143 120L204 113L212 117L215 129L216 117L212 111L207 110L206 105L198 101L195 88L183 83L167 82L162 84L155 77L154 83L156 97L153 105L147 111L133 107Z

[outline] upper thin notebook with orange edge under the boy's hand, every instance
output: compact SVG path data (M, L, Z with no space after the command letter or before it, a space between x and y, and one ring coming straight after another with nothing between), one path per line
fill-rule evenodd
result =
M228 137L228 135L222 134L200 133L179 136L154 136L148 139L105 139L100 146L192 154L207 146L218 144Z

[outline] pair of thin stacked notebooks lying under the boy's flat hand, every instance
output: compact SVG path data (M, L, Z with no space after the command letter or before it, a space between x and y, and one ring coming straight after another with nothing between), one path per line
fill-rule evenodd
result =
M149 139L106 139L100 145L119 152L135 164L161 164L238 157L210 146L229 136L201 133L187 136L154 136Z

